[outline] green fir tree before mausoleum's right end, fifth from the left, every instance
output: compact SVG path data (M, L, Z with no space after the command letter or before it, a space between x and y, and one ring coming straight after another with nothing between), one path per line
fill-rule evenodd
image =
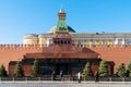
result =
M99 70L98 70L98 75L100 77L108 76L108 65L107 65L106 61L104 61L104 60L100 61L100 66L99 66Z

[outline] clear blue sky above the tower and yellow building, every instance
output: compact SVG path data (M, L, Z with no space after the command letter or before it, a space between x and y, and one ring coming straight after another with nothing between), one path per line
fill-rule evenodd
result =
M131 0L0 0L0 44L48 32L61 4L78 33L131 33Z

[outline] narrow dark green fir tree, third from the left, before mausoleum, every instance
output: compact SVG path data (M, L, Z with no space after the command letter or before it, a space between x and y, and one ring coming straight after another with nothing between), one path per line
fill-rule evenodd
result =
M32 75L34 77L37 77L39 75L39 66L38 66L38 61L35 59L32 67Z

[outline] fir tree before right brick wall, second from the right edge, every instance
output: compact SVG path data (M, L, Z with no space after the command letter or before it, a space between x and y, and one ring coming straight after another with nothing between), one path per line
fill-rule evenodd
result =
M126 71L124 63L120 63L120 65L118 67L118 72L117 72L118 76L119 77L126 77L126 73L127 73L127 71Z

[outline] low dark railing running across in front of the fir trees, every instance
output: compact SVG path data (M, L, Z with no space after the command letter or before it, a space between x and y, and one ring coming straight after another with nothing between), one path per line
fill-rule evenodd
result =
M45 75L41 77L0 77L0 82L27 82L27 80L78 80L78 76L63 75L60 77L57 75L55 78L51 75ZM95 82L95 77L81 77L82 82ZM98 77L98 82L131 82L131 77Z

